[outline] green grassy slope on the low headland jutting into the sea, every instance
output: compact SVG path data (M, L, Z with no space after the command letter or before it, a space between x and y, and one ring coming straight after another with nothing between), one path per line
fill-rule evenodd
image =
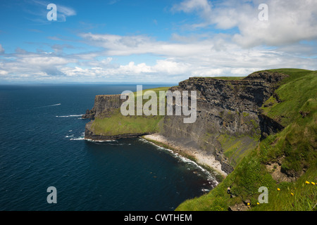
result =
M159 97L159 91L167 91L169 87L161 87L156 89L146 89L142 91L155 91ZM135 98L141 93L135 92ZM144 100L143 103L149 100ZM136 99L135 99L136 104ZM159 105L158 105L159 109ZM114 110L108 117L97 117L95 118L92 129L94 134L111 136L117 134L143 134L156 132L157 124L163 118L161 115L157 116L123 116L120 113L120 109Z

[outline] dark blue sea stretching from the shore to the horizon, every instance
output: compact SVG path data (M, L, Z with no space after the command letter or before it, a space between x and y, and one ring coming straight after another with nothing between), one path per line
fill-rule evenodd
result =
M175 210L210 190L207 172L147 141L83 139L94 96L125 90L136 85L0 86L0 210Z

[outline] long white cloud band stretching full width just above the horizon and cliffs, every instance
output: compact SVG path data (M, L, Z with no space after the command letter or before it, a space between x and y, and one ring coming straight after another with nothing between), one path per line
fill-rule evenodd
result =
M63 45L51 46L52 53L30 53L18 49L0 64L1 77L15 75L20 79L56 79L122 82L180 82L192 76L245 76L256 70L270 68L307 68L316 66L316 58L290 54L295 49L268 49L263 46L242 48L230 41L227 34L214 37L183 37L173 41L156 41L147 36L81 34L87 44L101 51L75 54L58 53ZM147 47L149 46L149 47ZM297 46L294 46L294 48ZM309 49L303 50L306 54ZM118 58L133 54L151 54L154 63L120 64ZM304 55L306 56L306 55ZM12 78L12 77L11 77Z

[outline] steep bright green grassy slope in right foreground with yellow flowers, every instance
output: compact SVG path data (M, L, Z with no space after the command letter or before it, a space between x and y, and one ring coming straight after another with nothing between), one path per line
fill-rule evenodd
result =
M228 210L237 203L251 203L249 210L316 210L317 185L317 71L279 69L290 75L270 98L263 113L285 125L278 134L261 141L216 188L186 200L176 210ZM283 158L282 169L304 174L295 182L277 183L266 169L268 162ZM230 198L231 186L235 198ZM258 205L260 186L268 188L268 204ZM278 191L277 188L280 188ZM314 207L315 206L315 207Z

